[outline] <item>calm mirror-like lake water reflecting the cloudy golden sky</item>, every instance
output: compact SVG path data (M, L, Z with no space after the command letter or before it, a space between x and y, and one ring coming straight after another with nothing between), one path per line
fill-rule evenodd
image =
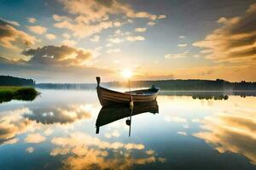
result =
M96 134L95 90L38 90L0 104L1 170L256 169L256 97L161 93L158 108L137 108L129 137L127 118ZM102 109L98 123L119 109Z

